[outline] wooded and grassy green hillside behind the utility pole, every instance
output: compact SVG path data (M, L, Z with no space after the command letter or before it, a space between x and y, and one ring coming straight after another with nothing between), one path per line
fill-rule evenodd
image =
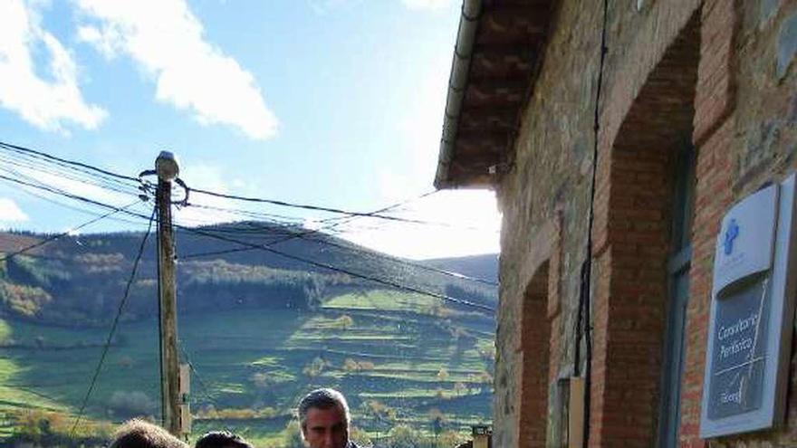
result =
M0 437L19 433L25 409L79 409L140 237L65 238L2 266ZM231 248L203 242L179 235L178 253ZM350 243L291 243L274 247L495 305L493 287ZM87 408L91 422L159 414L154 248L147 253ZM297 269L263 251L187 258L178 266L181 350L194 367L194 434L229 428L275 446L298 398L316 386L346 393L354 423L371 438L400 424L429 434L440 415L453 430L490 418L495 321L485 311L341 272Z

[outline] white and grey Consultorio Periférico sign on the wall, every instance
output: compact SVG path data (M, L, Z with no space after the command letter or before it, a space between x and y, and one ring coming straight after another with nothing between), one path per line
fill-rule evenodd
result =
M783 422L792 341L795 177L731 208L717 237L700 436ZM791 268L791 269L790 269Z

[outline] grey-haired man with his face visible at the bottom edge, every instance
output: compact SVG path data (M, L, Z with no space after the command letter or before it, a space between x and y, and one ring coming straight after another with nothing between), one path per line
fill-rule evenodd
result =
M304 396L299 424L310 448L358 448L349 440L349 405L337 390L316 389Z

